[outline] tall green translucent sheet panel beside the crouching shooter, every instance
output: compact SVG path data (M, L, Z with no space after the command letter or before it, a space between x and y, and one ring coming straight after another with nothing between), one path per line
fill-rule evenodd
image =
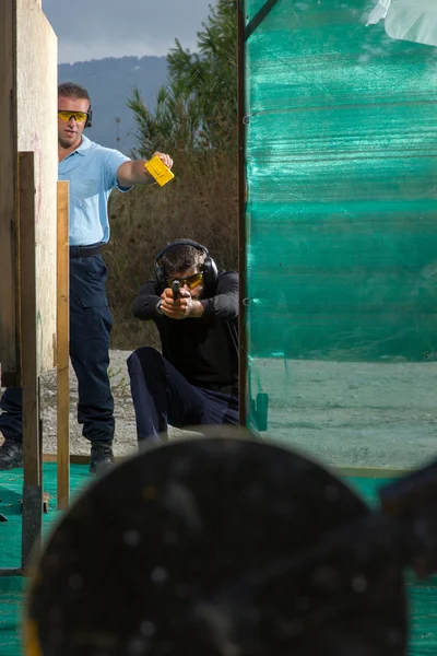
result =
M410 468L437 452L437 49L375 4L279 0L246 43L249 391L268 437Z

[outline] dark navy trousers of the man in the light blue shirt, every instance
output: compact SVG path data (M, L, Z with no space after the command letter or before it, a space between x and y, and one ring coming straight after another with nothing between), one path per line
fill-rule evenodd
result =
M70 359L78 377L78 421L91 442L114 438L109 335L113 321L106 297L106 266L99 254L70 258ZM22 441L22 390L8 388L1 400L0 431Z

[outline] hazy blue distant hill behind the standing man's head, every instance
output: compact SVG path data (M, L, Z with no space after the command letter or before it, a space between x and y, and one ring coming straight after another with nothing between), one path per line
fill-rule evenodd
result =
M167 77L166 57L120 57L92 59L58 67L59 82L76 82L87 89L93 106L93 127L86 136L93 141L129 154L135 145L133 113L127 107L138 86L150 109ZM116 117L120 122L116 122ZM119 137L119 141L117 141Z

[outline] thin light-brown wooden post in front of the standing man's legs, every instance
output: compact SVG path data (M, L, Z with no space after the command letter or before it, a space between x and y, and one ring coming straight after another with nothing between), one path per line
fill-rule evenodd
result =
M58 248L57 248L57 365L58 365L58 509L70 501L70 285L69 285L69 183L58 183Z

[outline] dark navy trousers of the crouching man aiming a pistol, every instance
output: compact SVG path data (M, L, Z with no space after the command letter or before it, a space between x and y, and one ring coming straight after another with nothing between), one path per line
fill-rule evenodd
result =
M142 347L128 358L138 440L156 442L167 425L238 424L238 399L188 380L158 351Z

